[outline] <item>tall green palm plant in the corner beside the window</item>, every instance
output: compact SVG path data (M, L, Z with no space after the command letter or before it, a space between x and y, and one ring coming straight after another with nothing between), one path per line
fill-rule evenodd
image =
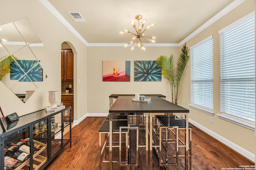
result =
M172 103L174 104L178 104L178 98L181 93L179 92L180 81L190 58L188 53L189 49L185 43L180 51L180 57L176 64L174 64L173 55L170 55L170 57L161 55L156 59L158 66L162 68L163 77L170 83Z

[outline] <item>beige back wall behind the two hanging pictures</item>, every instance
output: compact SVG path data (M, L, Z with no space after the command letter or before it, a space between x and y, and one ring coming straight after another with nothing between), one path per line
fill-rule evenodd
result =
M108 113L111 94L162 94L170 98L170 86L161 82L134 82L134 61L156 60L160 55L179 57L178 47L146 47L146 51L124 47L88 47L88 113ZM102 61L131 61L130 82L103 82ZM99 106L100 104L100 106Z

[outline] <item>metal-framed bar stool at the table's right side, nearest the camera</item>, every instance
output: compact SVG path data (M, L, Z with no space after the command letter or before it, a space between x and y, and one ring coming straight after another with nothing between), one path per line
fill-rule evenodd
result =
M162 131L162 128L161 126L164 126L164 127L168 127L168 117L161 117L161 116L157 116L157 121L158 121L158 125L159 125L159 135L161 135L161 131ZM169 120L169 126L170 127L178 127L178 131L180 130L185 130L186 129L186 122L184 120L181 120L181 119L175 119L175 117L170 117L170 120ZM185 132L185 133L189 133L188 137L188 141L189 141L189 163L190 163L190 169L191 169L191 166L192 166L192 157L191 157L191 140L192 140L192 125L188 124L188 132ZM180 137L179 137L179 132L176 133L174 132L173 130L170 131L172 134L176 135L176 137L178 136L178 150L179 152L177 152L177 156L176 157L185 157L186 153L184 154L180 154L180 149L179 148L185 148L186 147L186 139L183 141ZM185 135L186 137L186 135ZM159 137L159 141L162 142L162 139L161 137ZM161 147L160 147L161 148ZM167 149L167 148L166 148ZM161 152L161 150L160 150ZM166 151L167 152L167 151ZM186 152L186 151L185 151ZM167 165L167 164L166 164Z

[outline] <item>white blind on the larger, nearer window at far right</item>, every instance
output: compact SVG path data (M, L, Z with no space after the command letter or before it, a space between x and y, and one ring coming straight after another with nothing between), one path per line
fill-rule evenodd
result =
M255 21L220 33L220 111L255 121Z

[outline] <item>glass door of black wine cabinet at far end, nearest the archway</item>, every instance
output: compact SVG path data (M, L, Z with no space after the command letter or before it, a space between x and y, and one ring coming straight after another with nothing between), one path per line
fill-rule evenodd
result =
M63 145L65 146L66 143L70 141L70 129L71 129L71 109L68 109L66 111L63 111L63 124L64 124L64 129L63 129Z

